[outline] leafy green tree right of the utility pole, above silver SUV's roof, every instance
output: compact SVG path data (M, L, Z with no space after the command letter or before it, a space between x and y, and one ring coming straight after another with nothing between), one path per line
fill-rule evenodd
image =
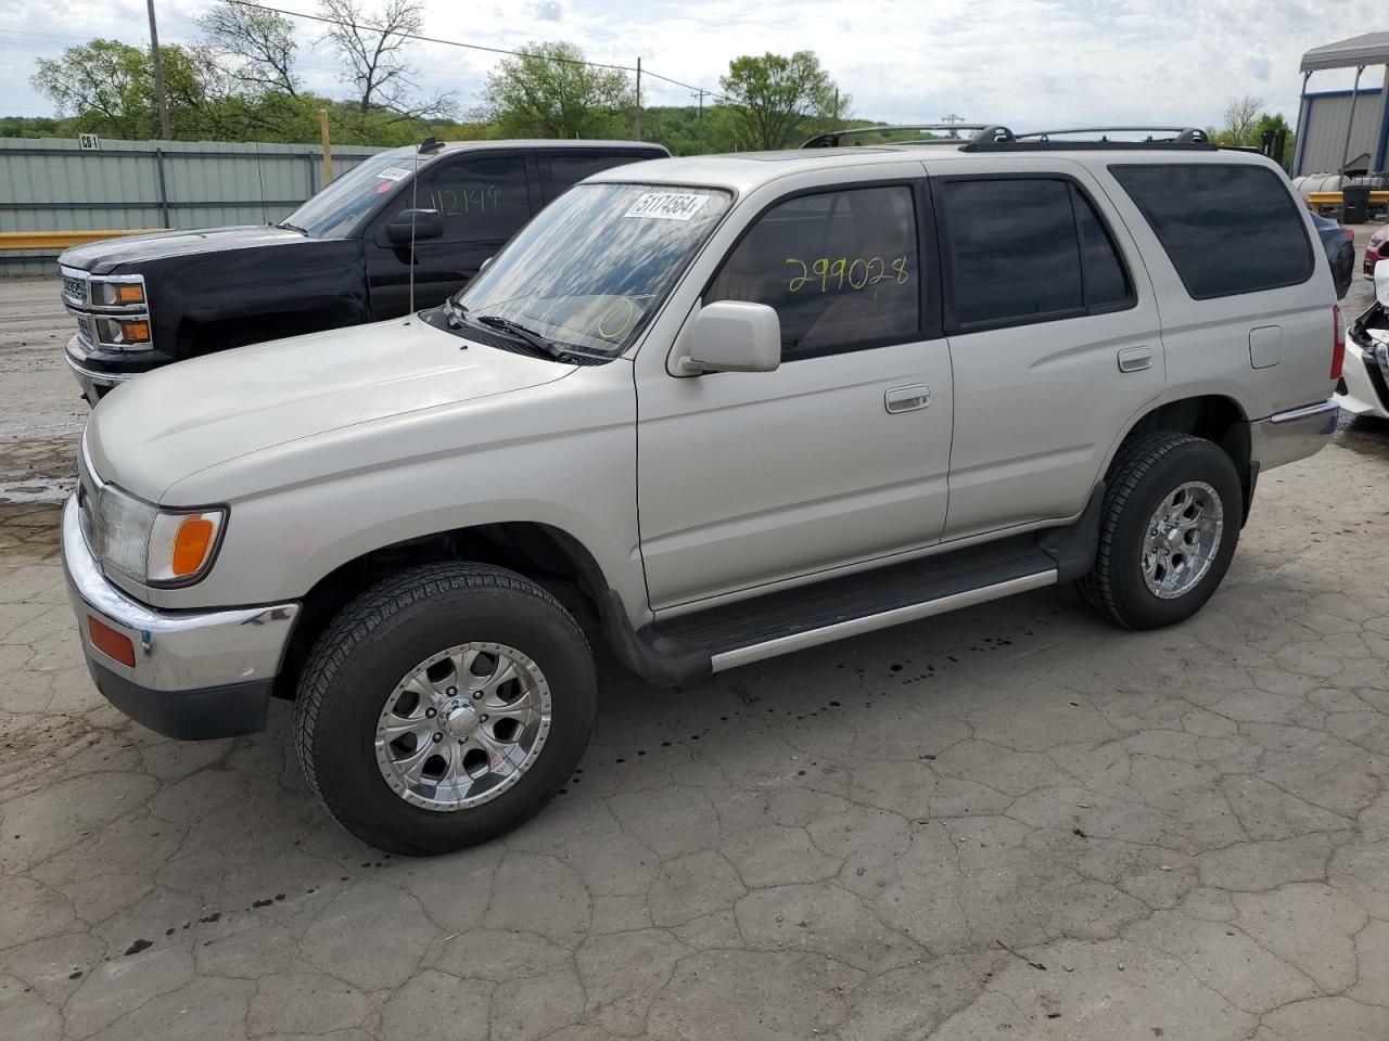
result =
M745 54L728 64L718 81L728 96L738 144L743 149L785 149L800 144L818 122L840 118L849 99L836 104L835 83L814 51Z

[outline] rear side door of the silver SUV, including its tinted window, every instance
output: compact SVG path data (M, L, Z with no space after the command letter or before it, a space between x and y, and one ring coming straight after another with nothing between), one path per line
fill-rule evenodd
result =
M1071 518L1164 386L1147 271L1079 164L931 167L954 372L946 539Z

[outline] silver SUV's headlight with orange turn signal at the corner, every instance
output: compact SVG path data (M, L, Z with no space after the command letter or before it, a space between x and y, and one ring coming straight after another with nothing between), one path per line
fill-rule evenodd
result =
M103 568L142 586L189 586L217 557L226 511L160 509L104 484L94 493L96 523L89 539Z

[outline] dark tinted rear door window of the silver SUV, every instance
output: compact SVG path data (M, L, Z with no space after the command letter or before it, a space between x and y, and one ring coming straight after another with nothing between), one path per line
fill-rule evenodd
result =
M939 198L953 328L1070 318L1133 300L1108 230L1070 180L946 180Z

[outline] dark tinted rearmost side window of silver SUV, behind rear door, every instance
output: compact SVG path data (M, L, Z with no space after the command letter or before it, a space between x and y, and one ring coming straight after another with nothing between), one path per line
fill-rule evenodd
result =
M1283 179L1261 167L1111 165L1195 300L1296 286L1313 251Z

